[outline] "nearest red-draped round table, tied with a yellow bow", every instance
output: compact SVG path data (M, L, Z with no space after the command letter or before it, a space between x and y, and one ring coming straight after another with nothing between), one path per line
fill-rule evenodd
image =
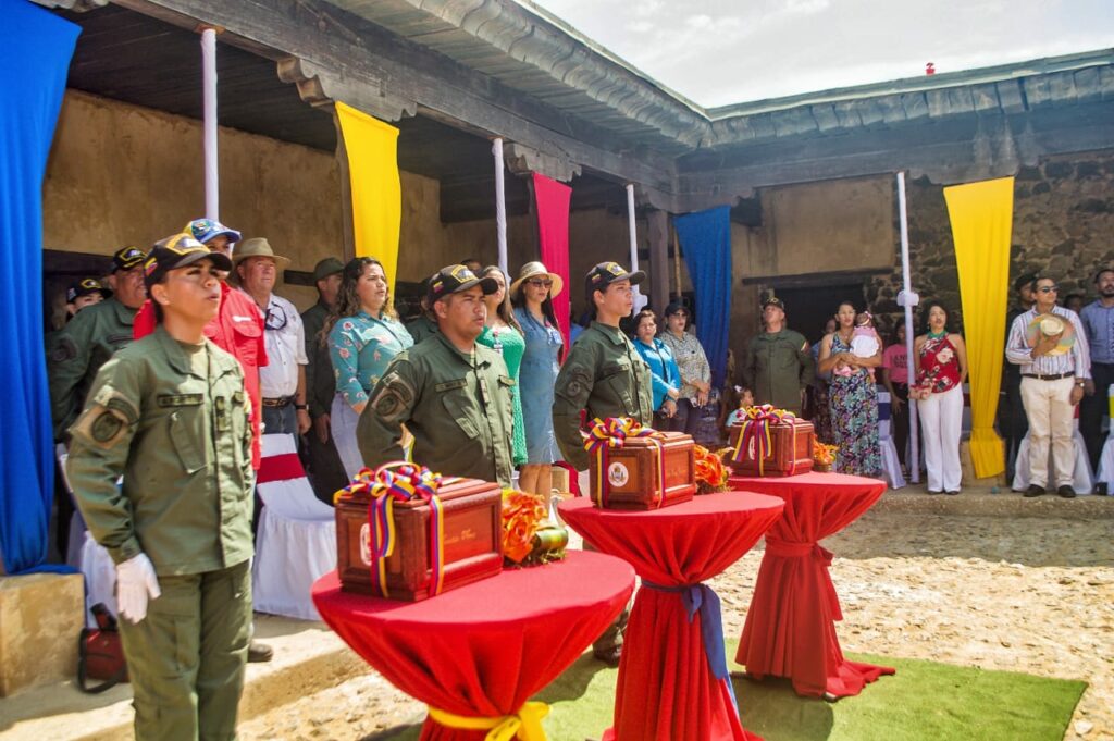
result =
M508 568L422 602L313 585L321 617L391 684L431 708L470 718L516 715L623 611L634 571L605 554ZM485 730L427 718L421 739L472 741Z

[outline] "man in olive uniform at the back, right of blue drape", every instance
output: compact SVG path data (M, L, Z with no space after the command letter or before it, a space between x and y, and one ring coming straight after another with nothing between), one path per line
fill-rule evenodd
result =
M773 404L800 416L804 390L817 377L808 340L785 326L785 304L770 296L762 302L765 332L751 339L743 361L743 386L758 404Z

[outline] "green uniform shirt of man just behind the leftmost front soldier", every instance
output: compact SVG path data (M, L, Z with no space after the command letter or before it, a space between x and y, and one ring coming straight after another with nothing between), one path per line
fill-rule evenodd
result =
M51 338L47 373L56 440L77 419L100 367L131 343L135 315L136 310L107 299L82 309Z

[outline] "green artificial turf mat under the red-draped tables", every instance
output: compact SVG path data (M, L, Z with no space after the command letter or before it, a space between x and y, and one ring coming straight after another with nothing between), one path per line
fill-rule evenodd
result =
M727 656L736 641L727 642ZM893 666L857 696L838 702L799 698L785 680L735 679L743 725L768 741L1061 741L1086 682L1049 680L930 661L848 654ZM742 667L731 664L732 671ZM582 656L543 690L550 741L598 739L612 724L617 670ZM375 739L418 738L418 727ZM680 741L680 740L678 740Z

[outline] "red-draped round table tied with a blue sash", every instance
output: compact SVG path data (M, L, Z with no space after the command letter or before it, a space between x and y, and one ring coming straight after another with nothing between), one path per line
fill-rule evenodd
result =
M643 578L623 644L615 724L605 739L758 738L739 720L719 598L701 582L754 547L782 507L774 497L731 493L649 511L599 509L586 498L559 505L569 527L631 563ZM713 673L716 666L722 677Z

